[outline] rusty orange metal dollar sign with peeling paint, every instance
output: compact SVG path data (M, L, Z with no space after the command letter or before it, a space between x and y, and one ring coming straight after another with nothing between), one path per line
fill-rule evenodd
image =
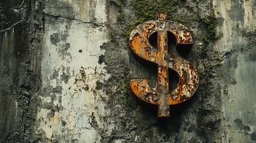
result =
M199 75L189 61L168 52L167 32L175 36L177 48L192 48L192 36L187 27L166 20L166 13L157 13L156 17L158 20L140 24L131 32L129 47L138 60L158 65L158 88L150 88L146 78L131 78L129 86L137 100L158 106L158 117L169 117L170 105L181 104L195 94ZM150 35L155 32L158 32L158 48L153 48L149 42ZM173 91L169 91L169 69L178 73L178 85Z

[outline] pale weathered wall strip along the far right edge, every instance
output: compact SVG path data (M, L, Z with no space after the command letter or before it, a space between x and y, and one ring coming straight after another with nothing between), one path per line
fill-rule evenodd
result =
M213 1L223 54L220 72L223 142L256 142L256 1Z

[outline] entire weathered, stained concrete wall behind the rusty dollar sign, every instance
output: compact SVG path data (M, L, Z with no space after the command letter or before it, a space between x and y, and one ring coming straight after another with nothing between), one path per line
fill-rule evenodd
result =
M128 92L129 77L157 84L124 36L133 2L0 1L0 142L256 142L256 2L172 1L200 86L165 122Z

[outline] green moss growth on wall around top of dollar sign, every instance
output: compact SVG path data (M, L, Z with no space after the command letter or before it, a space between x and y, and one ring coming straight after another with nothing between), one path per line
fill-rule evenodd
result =
M193 2L193 1L192 1ZM199 52L199 57L204 58L208 52L208 43L213 42L217 39L216 36L216 24L217 18L213 13L203 13L199 9L199 1L195 0L195 5L189 4L187 1L183 0L132 0L131 5L135 13L135 20L132 22L125 22L124 7L127 4L125 0L119 1L119 14L118 20L125 24L123 35L129 39L131 31L137 27L139 24L156 19L157 12L166 12L168 20L177 21L186 25L189 29L191 23L203 24L206 29L206 33L197 39L202 41L203 45ZM184 14L178 14L178 11L185 10ZM188 11L186 14L186 11Z

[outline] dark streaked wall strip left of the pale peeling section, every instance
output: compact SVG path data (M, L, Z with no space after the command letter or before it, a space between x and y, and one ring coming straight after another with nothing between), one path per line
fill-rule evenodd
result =
M35 123L42 27L34 7L31 1L0 1L0 142L26 140Z

